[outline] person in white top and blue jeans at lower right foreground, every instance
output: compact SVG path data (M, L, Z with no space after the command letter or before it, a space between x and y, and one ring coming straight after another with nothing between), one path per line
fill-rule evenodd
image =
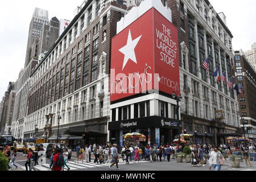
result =
M218 147L214 146L213 151L209 153L209 164L210 169L213 167L214 171L221 171L221 163L220 158L224 158L220 151L218 151Z

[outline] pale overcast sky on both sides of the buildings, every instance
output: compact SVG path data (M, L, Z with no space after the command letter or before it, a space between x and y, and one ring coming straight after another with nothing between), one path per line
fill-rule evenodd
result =
M28 28L35 7L46 9L49 19L72 20L73 11L84 0L26 0L0 1L0 100L9 81L16 81L20 70L24 67ZM256 42L256 1L224 1L210 0L217 13L224 12L227 24L232 32L233 48L250 49Z

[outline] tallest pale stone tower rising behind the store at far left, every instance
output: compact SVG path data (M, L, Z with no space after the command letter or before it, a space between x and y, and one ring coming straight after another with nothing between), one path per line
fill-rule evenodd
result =
M25 68L30 63L32 57L32 45L36 39L40 38L41 30L44 24L48 23L48 11L35 8L30 22L30 29L28 32L28 41L27 41L27 52L26 52L26 61Z

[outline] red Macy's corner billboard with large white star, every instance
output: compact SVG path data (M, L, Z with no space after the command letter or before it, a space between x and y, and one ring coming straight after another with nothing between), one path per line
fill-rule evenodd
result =
M110 101L180 93L177 28L154 7L112 39Z

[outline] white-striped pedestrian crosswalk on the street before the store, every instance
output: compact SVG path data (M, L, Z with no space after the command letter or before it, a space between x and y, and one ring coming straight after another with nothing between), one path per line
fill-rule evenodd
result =
M139 163L146 163L147 161L140 161ZM16 163L20 168L26 170L26 167ZM123 161L119 161L118 165L123 165L123 164L126 164L126 162L123 162ZM133 163L131 163L133 164ZM98 168L98 167L106 167L106 166L110 166L110 164L96 164L96 163L93 163L93 162L89 162L89 163L76 163L75 161L71 161L69 160L68 163L67 163L68 167L70 168L69 171L75 171L75 170L81 170L81 169L89 169L89 168ZM67 171L68 168L66 166L64 166L64 171ZM32 171L49 171L49 164L43 164L42 166L34 166L32 168Z

